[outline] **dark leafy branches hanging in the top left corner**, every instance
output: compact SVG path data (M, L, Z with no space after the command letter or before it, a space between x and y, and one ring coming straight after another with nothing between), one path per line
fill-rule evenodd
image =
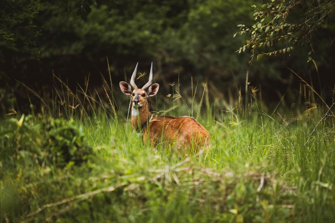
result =
M52 1L51 1L52 2ZM82 19L86 20L91 12L91 6L108 5L112 7L116 1L108 0L76 0L58 1L64 13L75 11ZM41 0L4 0L0 2L0 50L1 48L25 53L37 54L36 39L41 35L41 30L34 23L38 13L44 11L48 1ZM1 51L0 51L1 56Z

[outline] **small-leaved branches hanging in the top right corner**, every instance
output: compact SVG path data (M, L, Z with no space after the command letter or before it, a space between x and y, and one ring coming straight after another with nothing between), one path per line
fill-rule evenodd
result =
M273 45L278 45L279 49L259 53L257 60L263 56L290 53L295 46L299 45L309 45L308 54L311 55L314 52L313 36L320 29L329 28L327 19L328 15L335 10L335 1L269 0L261 6L261 9L256 5L252 7L255 8L254 20L257 22L252 28L238 25L241 31L236 33L246 33L250 36L247 44L237 52L241 53L246 48L251 48L251 63L257 48ZM284 44L279 44L280 42Z

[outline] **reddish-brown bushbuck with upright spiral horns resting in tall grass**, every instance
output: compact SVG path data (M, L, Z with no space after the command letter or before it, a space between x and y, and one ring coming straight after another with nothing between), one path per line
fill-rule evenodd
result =
M205 146L209 142L208 131L194 118L182 117L155 117L149 112L148 98L157 94L159 84L152 84L152 63L149 81L138 88L135 84L137 72L136 64L130 84L121 81L120 88L124 94L132 96L131 123L133 128L142 133L143 142L149 142L154 148L160 142L176 143L178 150L181 147Z

